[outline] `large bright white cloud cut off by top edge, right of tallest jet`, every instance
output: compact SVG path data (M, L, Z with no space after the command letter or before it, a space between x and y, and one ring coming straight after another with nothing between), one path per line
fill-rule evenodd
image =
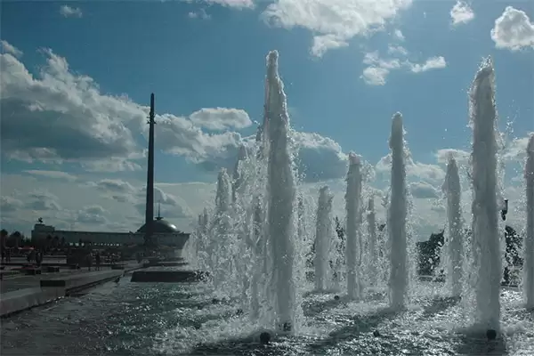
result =
M353 36L384 29L411 4L411 0L276 0L264 10L263 20L280 28L309 29L315 34L311 52L320 56L345 46Z

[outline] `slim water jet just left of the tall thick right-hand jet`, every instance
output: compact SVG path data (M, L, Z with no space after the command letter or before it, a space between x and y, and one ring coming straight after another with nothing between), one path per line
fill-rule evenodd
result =
M464 255L461 186L456 159L449 157L443 191L447 195L448 265L447 282L452 296L462 294L462 263Z

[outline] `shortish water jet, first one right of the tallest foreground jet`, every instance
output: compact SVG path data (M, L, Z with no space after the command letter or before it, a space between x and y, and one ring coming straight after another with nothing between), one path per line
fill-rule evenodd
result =
M328 286L330 245L332 242L332 199L328 186L319 190L317 205L317 229L315 233L315 289L326 290Z

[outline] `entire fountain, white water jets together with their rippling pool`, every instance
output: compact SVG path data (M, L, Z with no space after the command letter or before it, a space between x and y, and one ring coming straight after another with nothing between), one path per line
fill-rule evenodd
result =
M213 283L208 280L150 285L121 279L119 284L111 283L86 297L66 298L51 307L54 312L32 311L14 317L19 319L12 325L10 321L4 322L3 353L15 350L22 341L25 353L57 353L57 345L52 348L27 342L28 328L20 325L33 323L47 326L39 331L41 340L61 333L61 352L65 354L534 354L531 333L534 321L524 310L521 293L510 287L499 291L495 281L500 279L500 267L490 265L500 262L497 223L490 222L498 216L490 62L485 62L475 77L471 93L476 248L475 268L465 269L464 274L472 274L476 279L472 282L460 278L466 287L458 303L457 298L448 298L450 290L436 281L409 280L409 197L404 160L407 151L400 114L392 119L392 182L390 194L384 198L386 227L376 231L376 216L381 212L379 209L375 212L373 199L367 199L368 195L362 192L361 161L351 154L345 195L348 297L328 290L312 293L316 286L302 278L303 267L299 263L311 247L312 237L307 235L314 227L316 211L310 206L315 205L315 193L311 198L303 187L297 187L289 145L292 132L287 123L286 96L277 60L278 53L269 54L265 117L258 140L250 148L251 154L239 159L233 199L232 184L223 171L218 178L214 211L209 214L205 211L199 217L197 237L202 239L198 240L198 263L214 272ZM527 306L533 300L533 140L530 138L525 174ZM459 194L453 161L449 162L448 172L445 184L450 196L448 236L449 245L454 246L453 228L457 224L453 222L457 220ZM302 197L299 201L295 199L297 188ZM364 204L368 210L367 232L361 221ZM380 256L384 254L382 242L373 247L376 234L383 231L389 236L389 263L382 263L385 262ZM380 273L374 275L372 263L360 264L362 240L368 240L365 262L374 260L372 251L376 248L381 262L376 268L391 267L389 273L384 273L390 277L388 287ZM466 250L470 248L466 246ZM457 255L450 256L454 257L451 261L456 261ZM465 254L461 258L472 257ZM452 279L455 274L449 276ZM376 284L364 289L362 277ZM454 288L452 294L456 294ZM488 341L466 332L473 320L466 318L464 307L472 294L474 321L483 328L496 330L496 321L502 323L498 339ZM484 298L490 303L483 303ZM491 309L499 299L500 312ZM270 333L265 333L265 329ZM271 336L271 342L260 345L258 342L266 343L267 338L259 335Z

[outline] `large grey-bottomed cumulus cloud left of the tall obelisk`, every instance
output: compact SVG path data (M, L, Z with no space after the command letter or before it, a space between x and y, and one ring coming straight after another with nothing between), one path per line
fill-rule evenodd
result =
M139 152L132 125L144 121L145 110L101 95L93 79L72 74L51 50L43 53L46 65L39 77L11 54L0 57L4 156L61 163L125 159Z

